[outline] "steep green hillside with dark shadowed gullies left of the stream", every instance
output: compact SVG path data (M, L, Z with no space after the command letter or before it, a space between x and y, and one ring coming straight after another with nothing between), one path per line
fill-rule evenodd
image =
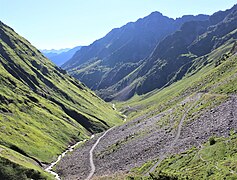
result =
M119 113L0 22L0 179L46 178L69 144L121 123Z

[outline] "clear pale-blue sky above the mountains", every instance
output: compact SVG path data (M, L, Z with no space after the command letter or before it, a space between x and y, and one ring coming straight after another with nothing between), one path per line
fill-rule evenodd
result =
M0 0L0 20L39 49L89 45L111 29L160 11L212 14L236 0Z

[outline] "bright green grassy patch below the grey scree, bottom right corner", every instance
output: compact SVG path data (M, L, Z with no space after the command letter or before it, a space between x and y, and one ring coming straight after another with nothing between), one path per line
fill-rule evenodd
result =
M237 135L215 140L213 145L208 141L201 149L194 147L163 160L153 173L154 176L164 172L189 179L236 179Z

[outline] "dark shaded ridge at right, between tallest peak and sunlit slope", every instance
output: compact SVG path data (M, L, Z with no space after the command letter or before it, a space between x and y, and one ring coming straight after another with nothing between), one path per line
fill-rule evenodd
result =
M190 21L162 40L153 53L118 83L100 90L106 99L126 100L180 80L193 60L236 38L237 6L215 13L207 21ZM206 58L206 57L203 57Z

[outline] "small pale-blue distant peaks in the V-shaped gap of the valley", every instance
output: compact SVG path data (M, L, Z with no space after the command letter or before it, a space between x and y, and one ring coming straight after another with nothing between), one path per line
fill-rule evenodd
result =
M50 59L57 66L63 65L69 59L73 57L73 55L81 49L81 46L74 47L72 49L65 49L63 51L50 51L50 50L42 50L41 52Z

